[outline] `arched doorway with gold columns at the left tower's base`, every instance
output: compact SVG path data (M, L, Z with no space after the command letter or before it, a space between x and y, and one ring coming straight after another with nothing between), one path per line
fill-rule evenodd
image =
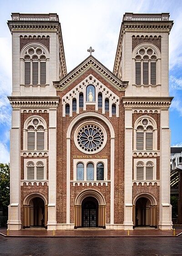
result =
M47 227L47 203L40 194L26 197L23 205L23 228Z

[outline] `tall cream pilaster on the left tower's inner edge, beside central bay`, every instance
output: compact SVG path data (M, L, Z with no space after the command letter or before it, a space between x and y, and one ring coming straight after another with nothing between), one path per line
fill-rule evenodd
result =
M49 110L49 203L47 229L56 230L56 109Z

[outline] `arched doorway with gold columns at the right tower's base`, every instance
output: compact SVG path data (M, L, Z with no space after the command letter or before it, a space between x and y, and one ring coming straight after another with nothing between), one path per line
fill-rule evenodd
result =
M153 197L140 195L135 199L133 205L134 227L157 228L157 205Z

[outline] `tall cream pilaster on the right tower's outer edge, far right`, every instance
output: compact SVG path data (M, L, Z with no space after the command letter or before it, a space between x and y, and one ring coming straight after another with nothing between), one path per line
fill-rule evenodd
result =
M170 131L168 109L161 109L159 229L172 229L170 204Z

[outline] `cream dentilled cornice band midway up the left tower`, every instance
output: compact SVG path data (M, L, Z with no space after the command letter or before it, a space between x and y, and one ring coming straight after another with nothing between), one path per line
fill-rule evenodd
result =
M12 108L22 107L58 107L60 96L9 96Z

